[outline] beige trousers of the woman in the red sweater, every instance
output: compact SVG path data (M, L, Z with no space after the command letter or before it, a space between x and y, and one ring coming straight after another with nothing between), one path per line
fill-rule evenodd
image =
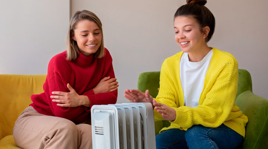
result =
M40 114L32 106L19 115L12 133L17 146L24 149L92 148L91 125Z

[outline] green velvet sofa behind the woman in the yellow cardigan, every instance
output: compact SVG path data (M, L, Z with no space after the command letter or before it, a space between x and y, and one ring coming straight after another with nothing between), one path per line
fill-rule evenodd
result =
M138 78L138 90L156 97L159 88L160 72L144 72ZM249 121L246 125L246 136L241 149L268 148L268 100L252 93L252 81L247 70L239 69L238 91L236 105L241 109ZM155 122L155 135L163 127L168 127L168 121Z

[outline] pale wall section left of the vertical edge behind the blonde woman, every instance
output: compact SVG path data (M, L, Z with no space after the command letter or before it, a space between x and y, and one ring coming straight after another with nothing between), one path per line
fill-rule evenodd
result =
M46 74L66 49L69 13L66 0L1 0L0 74Z

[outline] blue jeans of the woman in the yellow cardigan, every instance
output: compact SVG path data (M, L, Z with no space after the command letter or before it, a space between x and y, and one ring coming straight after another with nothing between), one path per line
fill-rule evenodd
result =
M169 129L155 139L157 149L233 149L238 148L244 138L222 124L217 128L193 125L187 131Z

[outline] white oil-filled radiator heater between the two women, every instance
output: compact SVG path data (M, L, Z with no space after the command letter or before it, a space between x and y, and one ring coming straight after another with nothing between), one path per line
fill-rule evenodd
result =
M122 103L91 107L94 149L155 149L151 103Z

